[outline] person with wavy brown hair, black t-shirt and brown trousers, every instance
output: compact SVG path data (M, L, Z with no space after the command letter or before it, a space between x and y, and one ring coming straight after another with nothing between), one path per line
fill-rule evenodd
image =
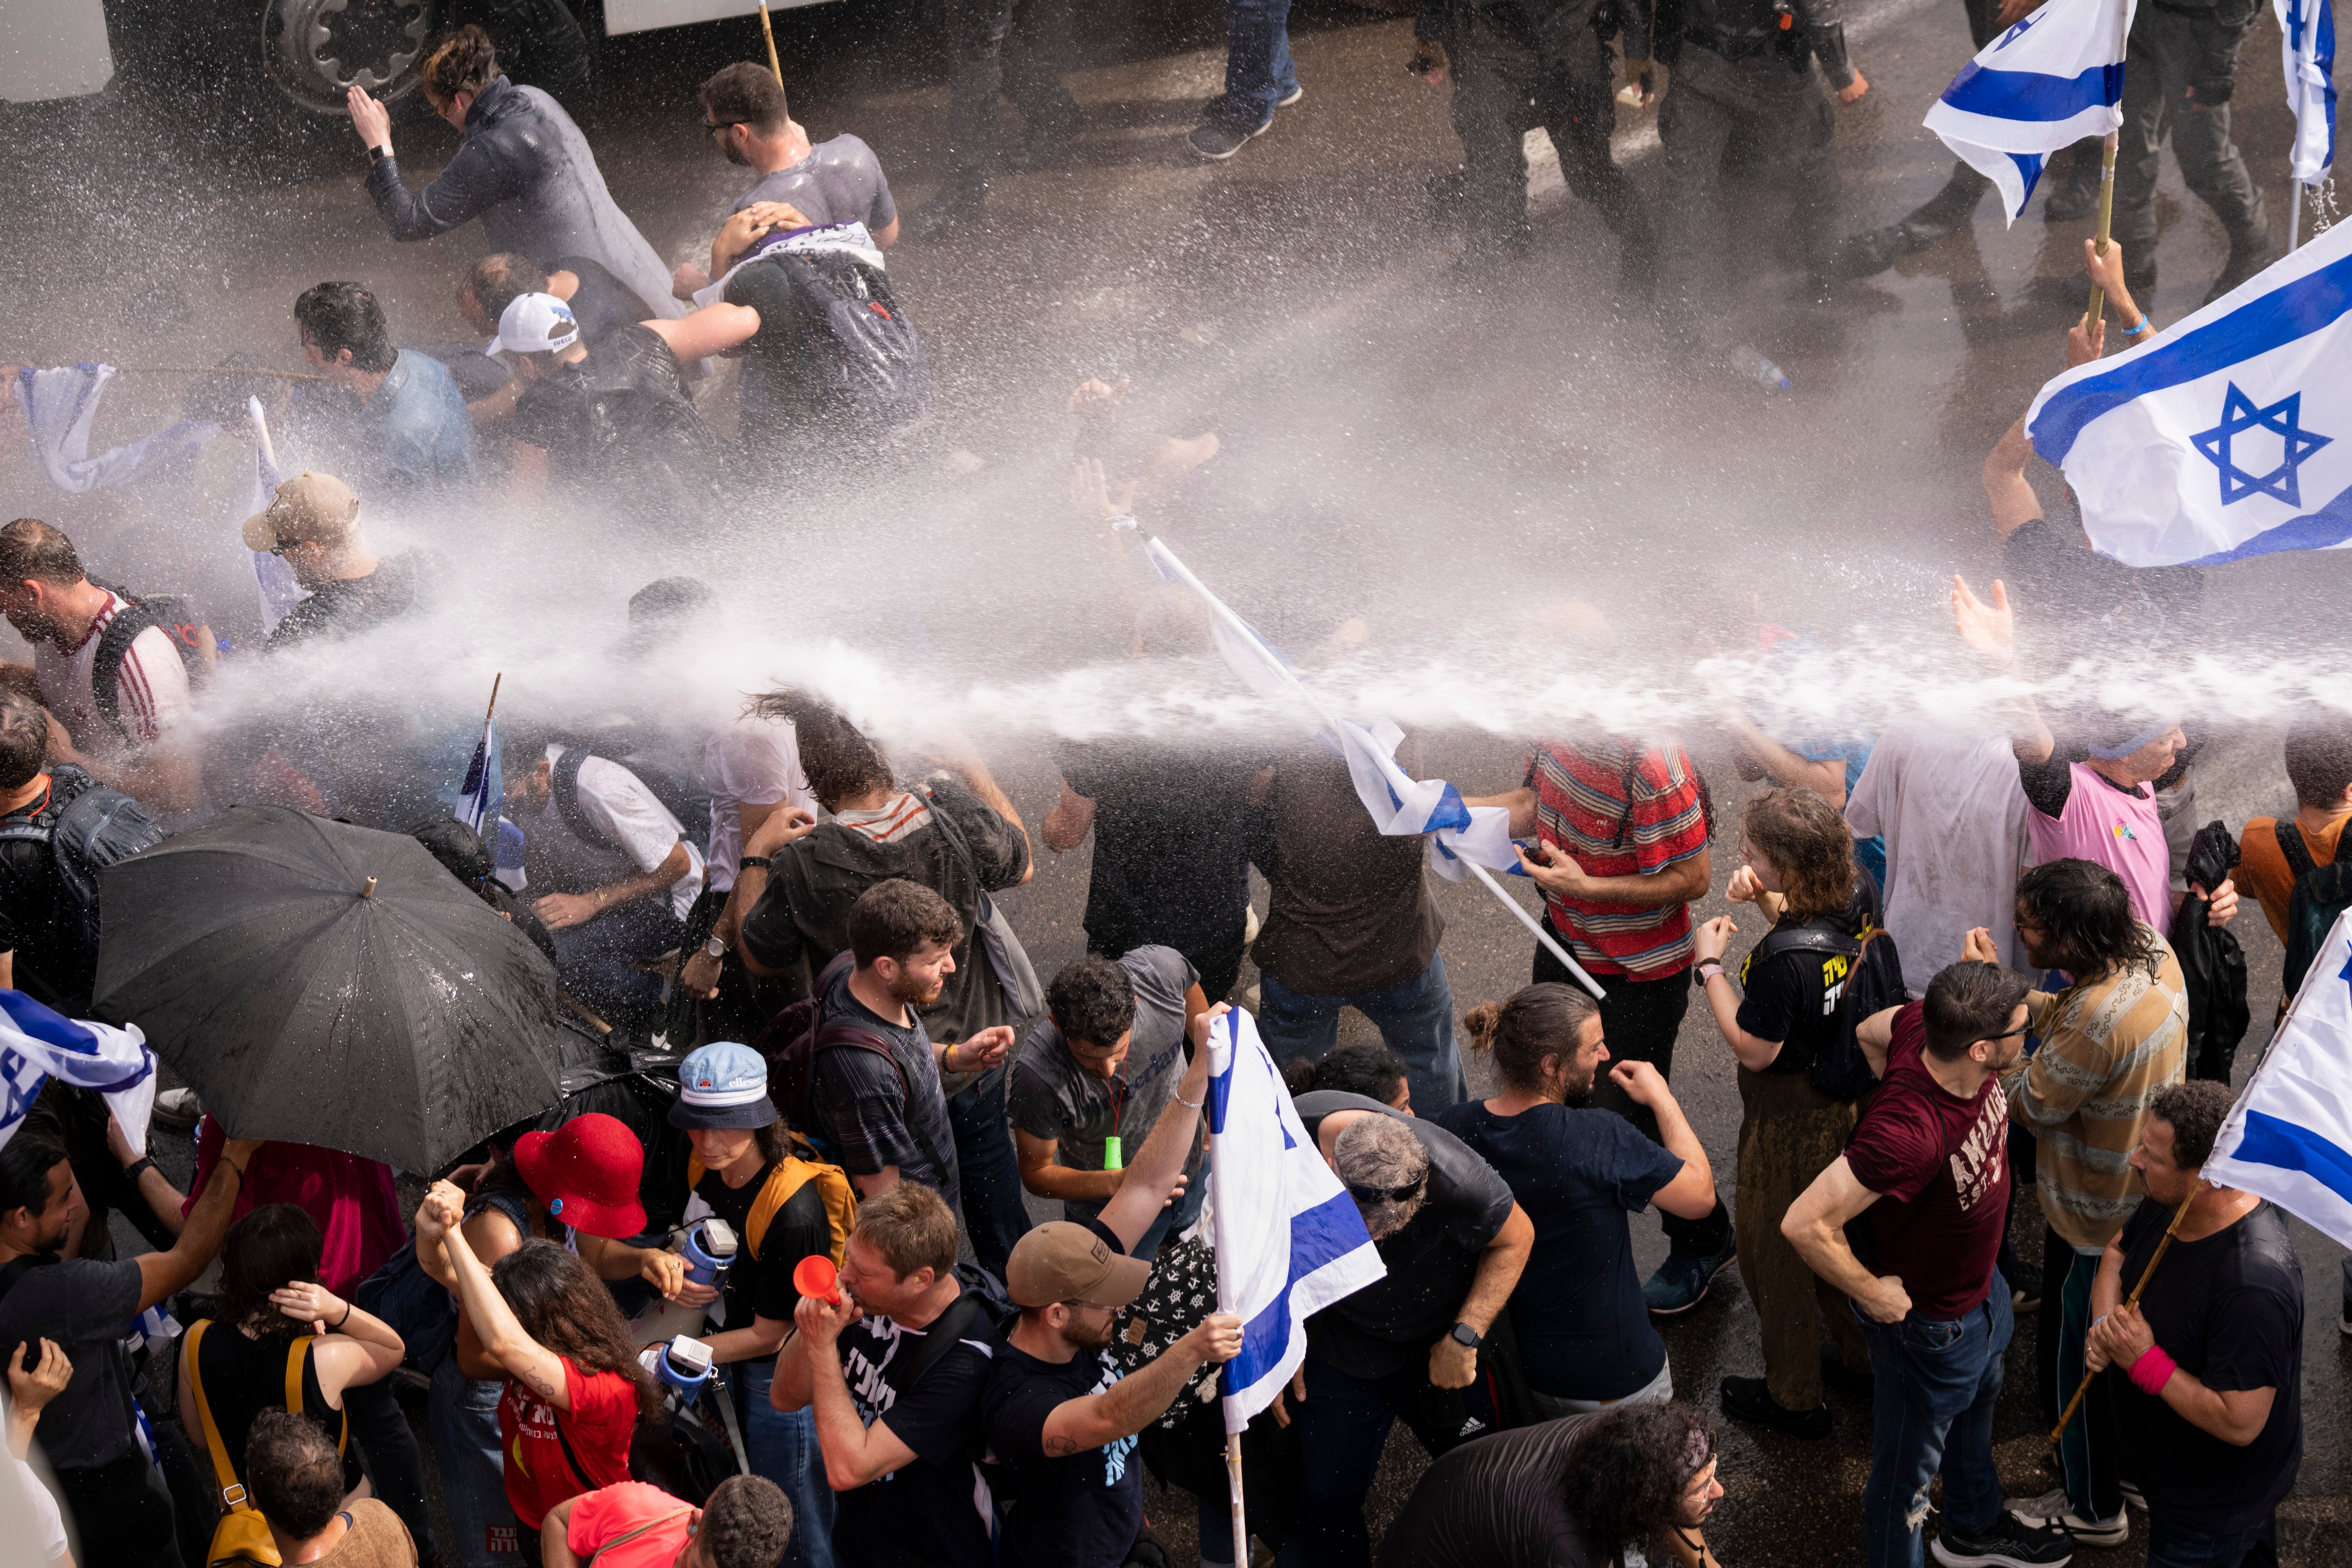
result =
M1764 1319L1764 1375L1724 1378L1724 1413L1792 1436L1830 1436L1823 1403L1820 1328L1830 1326L1844 1371L1865 1375L1870 1352L1846 1309L1780 1234L1780 1218L1853 1135L1856 1103L1813 1086L1813 1058L1837 1041L1837 1004L1853 959L1776 933L1825 931L1846 940L1879 936L1879 884L1853 863L1846 818L1811 790L1766 790L1740 813L1745 865L1724 896L1752 903L1771 922L1740 964L1724 971L1738 931L1729 914L1693 936L1708 1011L1738 1058L1740 1180L1736 1237L1740 1276ZM1766 943L1771 947L1766 950ZM1764 954L1762 959L1757 954ZM1745 990L1745 997L1740 994Z

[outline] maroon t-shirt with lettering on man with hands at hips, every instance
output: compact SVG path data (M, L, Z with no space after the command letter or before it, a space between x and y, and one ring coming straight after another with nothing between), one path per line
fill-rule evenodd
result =
M1926 1009L1896 1013L1886 1079L1846 1145L1853 1178L1879 1194L1863 1211L1872 1274L1893 1274L1922 1319L1950 1324L1992 1291L2009 1213L2009 1095L1987 1077L1973 1100L1938 1084L1922 1060Z

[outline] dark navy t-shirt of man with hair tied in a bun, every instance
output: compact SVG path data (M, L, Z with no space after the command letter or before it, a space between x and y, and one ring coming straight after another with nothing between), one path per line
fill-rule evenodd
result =
M1536 1105L1496 1117L1477 1100L1430 1117L1510 1182L1536 1227L1510 1328L1526 1382L1555 1399L1625 1399L1665 1366L1642 1307L1628 1213L1682 1173L1682 1159L1606 1110Z

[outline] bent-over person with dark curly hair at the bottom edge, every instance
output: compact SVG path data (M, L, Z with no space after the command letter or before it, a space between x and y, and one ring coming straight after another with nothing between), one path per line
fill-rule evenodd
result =
M1719 1568L1705 1523L1724 1495L1715 1422L1625 1403L1463 1443L1425 1472L1381 1568Z

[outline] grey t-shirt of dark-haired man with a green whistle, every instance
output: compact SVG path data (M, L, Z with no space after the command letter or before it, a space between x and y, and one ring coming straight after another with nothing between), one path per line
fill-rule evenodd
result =
M1028 1032L1014 1060L1014 1126L1030 1138L1056 1140L1054 1164L1070 1171L1103 1168L1103 1138L1112 1126L1124 1161L1134 1164L1183 1081L1183 994L1200 985L1200 971L1174 947L1136 947L1120 959L1120 969L1136 987L1136 1025L1117 1074L1101 1079L1080 1067L1051 1018ZM1200 1175L1200 1152L1185 1171ZM1103 1206L1063 1199L1061 1213L1065 1220L1091 1220Z

